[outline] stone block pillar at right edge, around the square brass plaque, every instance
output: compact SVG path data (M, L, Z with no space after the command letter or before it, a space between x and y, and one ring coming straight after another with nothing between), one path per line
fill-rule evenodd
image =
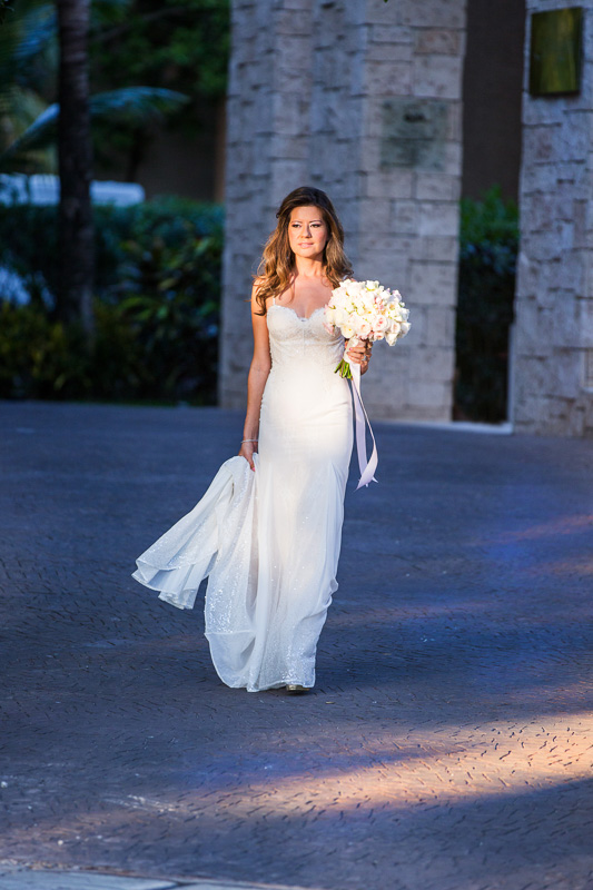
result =
M593 0L584 13L577 96L523 100L521 251L512 360L517 432L593 436Z

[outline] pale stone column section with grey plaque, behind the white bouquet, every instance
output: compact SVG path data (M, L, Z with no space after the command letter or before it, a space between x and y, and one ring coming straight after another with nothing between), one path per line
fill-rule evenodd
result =
M449 421L462 175L464 0L366 4L357 277L397 287L412 330L377 344L374 417Z

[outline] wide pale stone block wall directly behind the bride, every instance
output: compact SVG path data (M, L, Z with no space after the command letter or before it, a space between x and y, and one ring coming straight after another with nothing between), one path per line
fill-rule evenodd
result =
M451 418L465 0L235 0L220 402L245 404L244 300L281 198L325 189L356 277L398 287L412 332L378 346L374 417Z

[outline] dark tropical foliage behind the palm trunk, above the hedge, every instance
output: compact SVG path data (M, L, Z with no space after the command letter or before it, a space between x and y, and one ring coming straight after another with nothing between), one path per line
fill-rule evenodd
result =
M213 113L226 89L228 19L228 0L93 0L89 75L102 162L123 154L137 164L165 119L196 128L200 110ZM55 3L19 0L0 28L0 169L57 171L57 71Z

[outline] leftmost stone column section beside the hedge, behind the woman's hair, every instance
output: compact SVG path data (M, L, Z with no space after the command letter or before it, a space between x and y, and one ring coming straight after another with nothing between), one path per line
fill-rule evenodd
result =
M249 299L285 194L306 181L313 0L234 0L227 99L219 402L246 404Z

